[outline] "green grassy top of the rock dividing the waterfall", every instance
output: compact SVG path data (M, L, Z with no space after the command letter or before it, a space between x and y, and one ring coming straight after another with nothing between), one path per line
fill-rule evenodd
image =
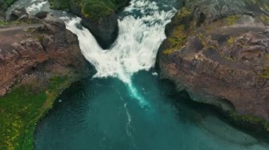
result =
M87 18L101 18L118 11L127 0L50 0L52 8L69 10L72 6L81 8Z

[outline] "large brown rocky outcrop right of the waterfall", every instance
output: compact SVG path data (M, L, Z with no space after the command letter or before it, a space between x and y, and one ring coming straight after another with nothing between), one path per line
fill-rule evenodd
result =
M161 75L195 101L269 121L268 6L263 0L183 1L161 46Z

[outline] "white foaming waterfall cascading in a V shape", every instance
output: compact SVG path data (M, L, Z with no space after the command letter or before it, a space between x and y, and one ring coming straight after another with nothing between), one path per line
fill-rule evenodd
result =
M33 0L27 10L40 11L47 7L45 4L47 1ZM106 50L98 45L91 32L80 25L81 18L68 17L66 13L59 17L67 29L78 36L82 54L97 70L94 77L118 77L143 107L149 104L132 85L132 75L139 70L149 70L155 64L159 46L166 39L165 26L176 13L175 8L166 8L164 4L162 7L167 11L161 10L155 1L132 0L123 12L127 15L118 20L118 39Z

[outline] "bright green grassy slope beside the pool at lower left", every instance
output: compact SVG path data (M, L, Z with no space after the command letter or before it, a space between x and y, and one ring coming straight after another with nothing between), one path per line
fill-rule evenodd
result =
M67 77L52 77L45 91L22 85L1 97L0 149L33 149L36 123L52 108L55 97L68 84Z

